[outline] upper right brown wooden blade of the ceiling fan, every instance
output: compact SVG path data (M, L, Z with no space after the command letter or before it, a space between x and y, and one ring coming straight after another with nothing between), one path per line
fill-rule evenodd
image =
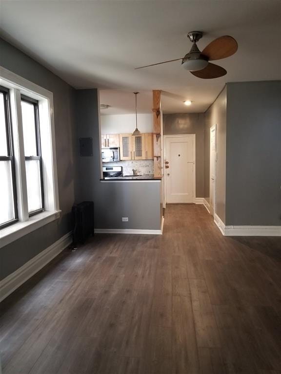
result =
M210 61L220 60L235 54L238 49L237 41L234 37L225 35L211 41L202 51L202 55L208 57Z

